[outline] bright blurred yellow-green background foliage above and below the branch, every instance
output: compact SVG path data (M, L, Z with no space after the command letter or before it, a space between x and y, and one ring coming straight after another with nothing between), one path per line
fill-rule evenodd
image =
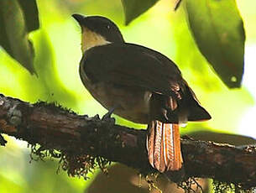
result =
M4 1L7 0L0 1L0 5ZM13 2L20 3L21 1ZM157 1L148 2L154 5ZM255 71L253 68L255 62L253 56L255 57L256 53L255 1L238 2L247 36L245 51L247 49L252 51L249 52L250 55L245 53L245 61L248 62L244 64L245 74L242 88L234 90L229 90L223 84L197 49L187 24L185 5L185 0L183 0L180 8L174 12L169 0L161 0L140 17L130 16L130 20L136 19L125 26L123 21L126 19L126 23L128 23L128 18L124 18L123 5L120 0L113 0L111 3L106 3L105 0L38 0L40 28L30 33L29 37L26 35L22 40L22 42L28 41L29 38L34 43L34 69L38 77L30 75L24 67L13 60L5 52L8 49L3 46L5 49L3 50L0 47L0 93L28 102L37 102L38 100L58 102L81 114L94 116L98 113L102 116L107 111L90 96L81 84L78 73L81 59L81 32L80 27L71 18L71 14L102 15L118 24L128 42L158 50L179 65L185 80L189 82L202 105L212 115L212 120L209 122L189 123L186 128L181 130L183 134L201 129L211 129L212 132L250 134L255 137L256 134L251 129L254 115L249 113L249 117L244 117L249 108L254 107L255 97L250 94L251 90L248 91L250 89L248 83L255 81L254 74L249 73ZM143 13L148 8L137 10ZM22 4L18 9L21 14L24 10ZM0 10L3 10L3 6L0 6ZM29 10L33 11L34 9L29 8ZM24 13L22 15L23 22L19 24L24 28L24 25L28 23L28 18L31 19L31 17ZM222 21L221 17L219 17L219 21ZM18 28L18 26L13 28ZM30 32L30 29L36 29L36 27L27 25L25 33ZM10 31L11 34L8 34L13 40L16 35L13 33L15 30L13 29ZM3 16L2 18L0 16L0 33L1 31L3 31ZM2 34L1 38L3 38ZM17 39L15 41L18 42ZM232 45L230 46L232 47ZM237 80L239 81L239 79ZM252 88L254 89L254 86ZM125 124L128 127L145 127L115 117L119 124ZM8 138L6 148L0 147L0 158L1 193L10 191L13 193L83 192L92 181L72 179L64 172L56 175L57 163L55 161L46 160L29 164L29 149L26 149L24 143L21 145L18 140L11 138ZM92 179L93 177L94 175L91 175Z

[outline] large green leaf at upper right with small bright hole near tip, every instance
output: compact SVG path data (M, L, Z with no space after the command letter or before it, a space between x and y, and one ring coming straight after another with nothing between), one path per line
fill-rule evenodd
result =
M196 44L222 81L240 87L245 34L235 0L186 0Z

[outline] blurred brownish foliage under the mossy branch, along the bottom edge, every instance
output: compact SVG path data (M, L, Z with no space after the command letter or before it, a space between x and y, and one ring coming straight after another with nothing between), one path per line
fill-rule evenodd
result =
M91 185L86 189L86 193L159 193L162 190L164 193L184 193L185 191L178 187L175 183L170 183L163 176L158 176L155 180L154 176L149 176L150 180L154 180L154 186L149 189L149 183L144 177L138 175L136 170L129 168L123 164L114 164L108 170L109 175L99 173L93 180ZM208 192L208 180L197 179L197 183L201 185L204 192ZM195 193L200 193L201 189L196 184L191 185ZM107 187L107 188L106 188Z

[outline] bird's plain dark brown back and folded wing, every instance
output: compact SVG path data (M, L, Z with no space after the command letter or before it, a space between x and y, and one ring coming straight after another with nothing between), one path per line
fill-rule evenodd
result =
M162 62L166 60L167 62ZM182 87L177 66L165 55L135 44L107 44L87 50L81 65L91 81L141 86L167 96L172 86Z

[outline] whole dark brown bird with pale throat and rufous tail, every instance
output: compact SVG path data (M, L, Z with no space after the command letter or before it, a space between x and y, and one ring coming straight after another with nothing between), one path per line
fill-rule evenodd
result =
M73 14L81 26L80 76L110 112L148 124L149 163L159 172L182 168L179 124L211 116L165 55L126 43L117 25L101 16Z

